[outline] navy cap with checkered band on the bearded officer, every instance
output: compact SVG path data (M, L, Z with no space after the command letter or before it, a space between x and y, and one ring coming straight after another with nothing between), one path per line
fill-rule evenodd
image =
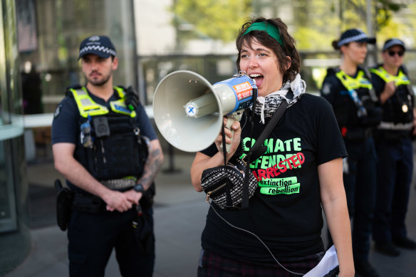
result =
M115 47L108 36L90 36L81 42L78 60L87 54L94 54L101 58L115 57Z

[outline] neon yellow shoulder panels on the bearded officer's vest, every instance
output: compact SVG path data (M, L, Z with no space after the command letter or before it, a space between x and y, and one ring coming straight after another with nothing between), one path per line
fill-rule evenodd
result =
M130 111L125 105L123 88L114 87L114 89L117 91L121 99L110 102L111 110L113 110L114 113L136 117L136 112L134 110ZM73 98L76 101L76 105L78 106L78 110L82 117L86 118L88 115L106 115L109 113L107 107L96 103L93 98L88 95L88 91L85 87L78 90L71 88L70 91L73 94Z

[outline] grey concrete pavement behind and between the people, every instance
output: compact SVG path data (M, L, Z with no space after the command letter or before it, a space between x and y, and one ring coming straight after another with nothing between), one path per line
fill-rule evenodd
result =
M204 228L208 204L205 194L192 188L189 167L193 155L175 155L175 167L180 172L162 171L156 179L155 236L156 263L155 277L196 276L200 250L200 236ZM168 169L165 160L164 168ZM51 162L28 166L31 188L38 189L32 194L31 254L8 277L49 277L68 276L68 254L66 232L55 224L53 181L61 177ZM40 189L40 190L39 190ZM43 199L36 197L44 196ZM36 202L37 201L37 202ZM44 207L41 207L43 204ZM37 207L33 207L36 205ZM33 216L33 213L36 216ZM416 239L416 191L412 185L410 206L407 214L409 236ZM325 229L324 229L325 230ZM323 231L326 233L326 231ZM325 236L325 234L323 234ZM375 251L370 253L370 262L380 277L416 276L416 251L401 250L397 258L383 256ZM114 255L106 268L106 276L120 276Z

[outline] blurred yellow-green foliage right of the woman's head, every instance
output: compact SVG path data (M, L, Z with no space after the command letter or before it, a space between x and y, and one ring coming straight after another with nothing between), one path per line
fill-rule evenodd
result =
M403 24L394 22L393 16L407 5L394 0L373 0L371 4L377 35L397 36ZM330 50L331 41L348 28L368 32L367 0L294 0L293 5L296 5L298 18L293 22L292 34L300 50Z

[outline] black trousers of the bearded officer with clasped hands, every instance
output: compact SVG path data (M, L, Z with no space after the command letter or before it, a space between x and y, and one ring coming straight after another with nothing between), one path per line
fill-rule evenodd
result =
M152 209L143 212L153 226ZM70 276L104 276L113 249L122 276L152 276L155 244L150 253L138 246L132 227L136 216L135 208L123 213L103 209L95 214L74 209L68 226Z

